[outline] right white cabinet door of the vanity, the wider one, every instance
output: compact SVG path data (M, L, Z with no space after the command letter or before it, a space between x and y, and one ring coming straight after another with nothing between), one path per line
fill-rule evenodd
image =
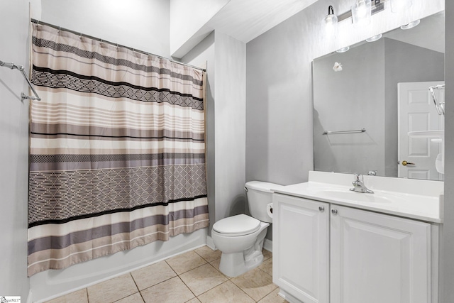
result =
M430 224L331 205L331 303L431 302L430 265Z

